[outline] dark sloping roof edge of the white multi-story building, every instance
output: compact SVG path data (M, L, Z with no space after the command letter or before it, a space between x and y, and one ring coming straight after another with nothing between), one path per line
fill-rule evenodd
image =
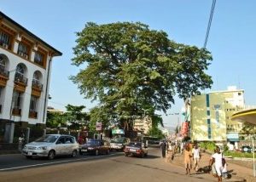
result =
M37 39L39 42L43 43L46 47L50 48L52 51L55 52L55 56L60 56L62 55L62 53L60 51L58 51L57 49L53 48L52 46L50 46L48 43L45 43L41 38L37 37L36 35L34 35L31 31L28 31L25 27L20 26L20 24L18 24L15 20L12 20L11 18L9 18L9 16L7 16L6 14L3 14L3 12L0 11L0 19L4 19L9 21L11 24L13 24L14 26L17 26L18 28L20 28L21 31L26 31L26 33Z

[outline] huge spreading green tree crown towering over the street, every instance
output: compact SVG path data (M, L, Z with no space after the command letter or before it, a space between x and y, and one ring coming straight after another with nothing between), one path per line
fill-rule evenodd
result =
M206 49L175 43L139 22L89 22L76 43L73 65L82 69L71 79L86 99L99 101L99 111L125 122L145 110L166 112L175 94L186 99L212 84Z

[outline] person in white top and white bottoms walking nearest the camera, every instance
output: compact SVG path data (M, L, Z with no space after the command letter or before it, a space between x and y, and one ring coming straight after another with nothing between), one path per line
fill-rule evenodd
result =
M216 152L212 155L212 160L210 161L210 167L212 167L212 164L214 162L214 167L216 170L216 173L218 175L218 182L222 181L222 171L224 169L223 167L223 154L220 152L219 147L216 147Z

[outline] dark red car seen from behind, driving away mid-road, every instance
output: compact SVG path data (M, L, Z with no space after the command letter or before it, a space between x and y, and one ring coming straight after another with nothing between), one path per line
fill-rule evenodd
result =
M125 146L125 156L148 156L148 147L142 142L130 142Z

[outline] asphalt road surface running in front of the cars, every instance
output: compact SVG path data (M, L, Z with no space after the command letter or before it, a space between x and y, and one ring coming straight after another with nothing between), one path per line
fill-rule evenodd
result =
M114 152L109 156L78 156L27 160L20 155L0 156L0 181L11 182L169 182L216 181L200 175L185 175L184 168L166 163L159 149L149 149L148 157L124 156ZM21 162L21 165L20 165Z

